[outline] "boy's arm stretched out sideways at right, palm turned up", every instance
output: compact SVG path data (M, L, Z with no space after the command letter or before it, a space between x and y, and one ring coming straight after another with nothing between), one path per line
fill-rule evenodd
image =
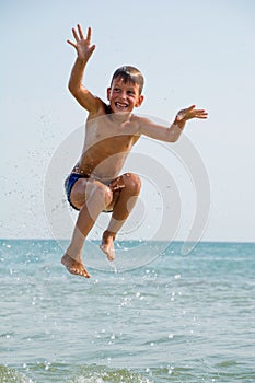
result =
M195 109L195 105L177 113L174 123L169 127L157 125L150 119L139 118L139 134L151 137L157 140L175 142L179 138L185 124L188 119L206 119L208 116L205 109Z

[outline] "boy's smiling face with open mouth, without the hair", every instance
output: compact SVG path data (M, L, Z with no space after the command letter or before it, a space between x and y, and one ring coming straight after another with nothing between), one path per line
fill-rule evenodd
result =
M125 83L121 78L113 80L112 86L107 89L107 98L114 113L132 112L143 101L139 85L131 82Z

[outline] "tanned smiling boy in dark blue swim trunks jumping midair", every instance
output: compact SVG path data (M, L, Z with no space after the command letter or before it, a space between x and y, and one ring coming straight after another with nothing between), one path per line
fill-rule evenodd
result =
M188 119L207 118L205 109L195 105L182 109L170 127L157 125L148 118L132 114L143 102L143 77L134 67L115 71L107 89L108 105L94 96L82 85L86 62L95 49L91 45L91 28L84 38L80 25L72 28L77 50L69 90L89 115L85 125L85 140L81 158L66 179L67 197L70 205L79 210L72 240L61 263L71 274L90 278L82 262L82 247L102 211L111 211L112 218L103 233L101 249L108 260L115 258L114 240L138 198L141 182L138 175L119 175L132 146L141 135L157 140L175 142Z

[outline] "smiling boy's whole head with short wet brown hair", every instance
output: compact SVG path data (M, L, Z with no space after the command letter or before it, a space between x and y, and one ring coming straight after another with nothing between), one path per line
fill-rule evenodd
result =
M143 88L143 77L141 72L130 66L118 68L107 89L107 98L112 112L132 112L134 107L142 104L143 95L141 94Z

